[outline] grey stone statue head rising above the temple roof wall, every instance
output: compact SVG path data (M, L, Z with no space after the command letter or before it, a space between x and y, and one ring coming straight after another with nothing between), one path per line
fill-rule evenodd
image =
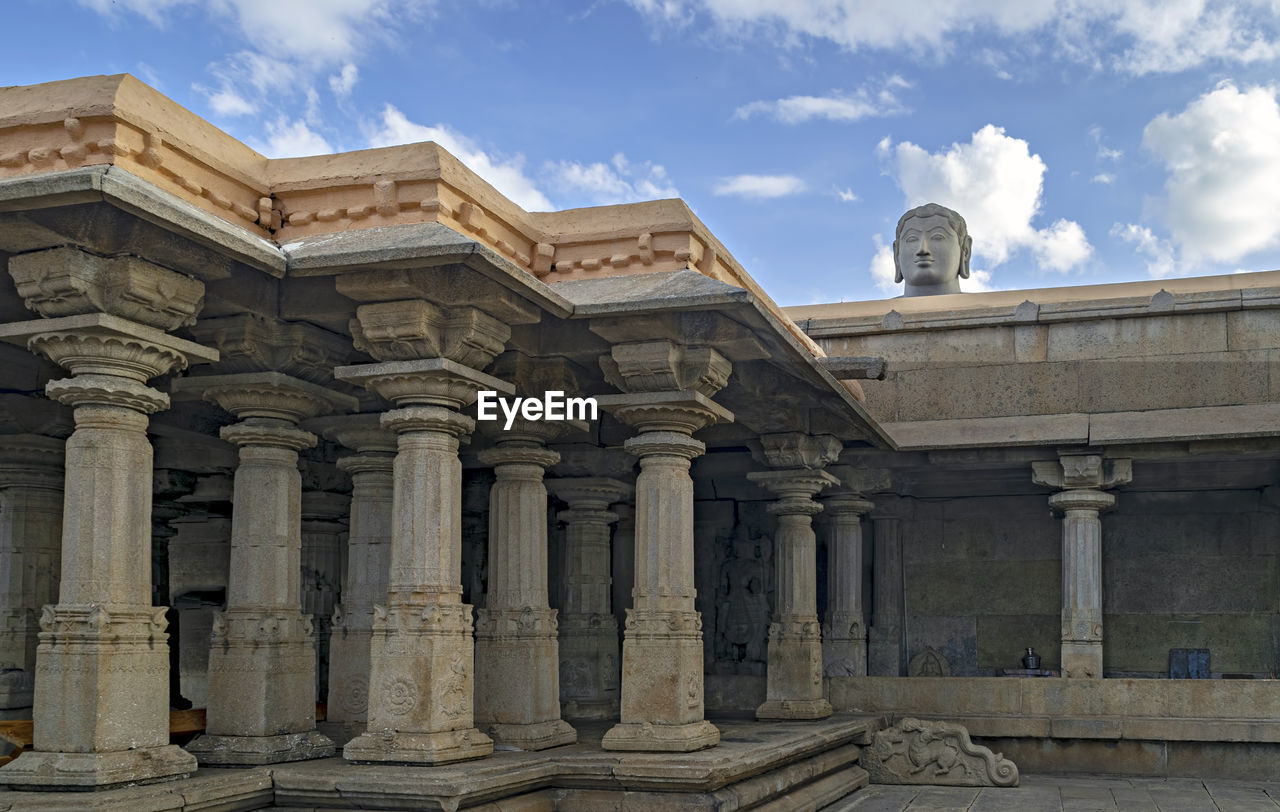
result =
M938 204L911 209L893 233L893 282L906 280L905 296L959 293L972 250L963 216Z

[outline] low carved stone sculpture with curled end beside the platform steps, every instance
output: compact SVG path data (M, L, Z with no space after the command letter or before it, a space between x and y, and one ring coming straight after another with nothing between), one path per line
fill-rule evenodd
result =
M876 734L858 762L872 784L1018 786L1018 765L969 740L964 725L904 719Z

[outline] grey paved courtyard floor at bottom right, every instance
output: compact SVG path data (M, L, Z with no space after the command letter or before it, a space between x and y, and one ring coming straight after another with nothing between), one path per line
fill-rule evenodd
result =
M823 812L1280 812L1275 781L1024 775L1012 789L872 785Z

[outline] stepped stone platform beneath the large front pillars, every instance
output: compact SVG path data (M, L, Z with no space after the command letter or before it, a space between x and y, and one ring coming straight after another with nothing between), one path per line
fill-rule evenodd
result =
M718 747L695 753L600 749L608 722L577 725L577 744L502 751L462 765L352 765L342 758L195 776L99 793L0 793L0 812L242 809L819 809L867 785L860 745L878 721L717 719Z

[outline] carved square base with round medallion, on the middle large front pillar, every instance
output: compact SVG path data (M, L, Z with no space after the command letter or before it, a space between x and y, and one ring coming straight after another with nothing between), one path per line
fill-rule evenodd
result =
M472 726L471 607L378 607L369 724L343 748L356 762L443 765L493 753Z

